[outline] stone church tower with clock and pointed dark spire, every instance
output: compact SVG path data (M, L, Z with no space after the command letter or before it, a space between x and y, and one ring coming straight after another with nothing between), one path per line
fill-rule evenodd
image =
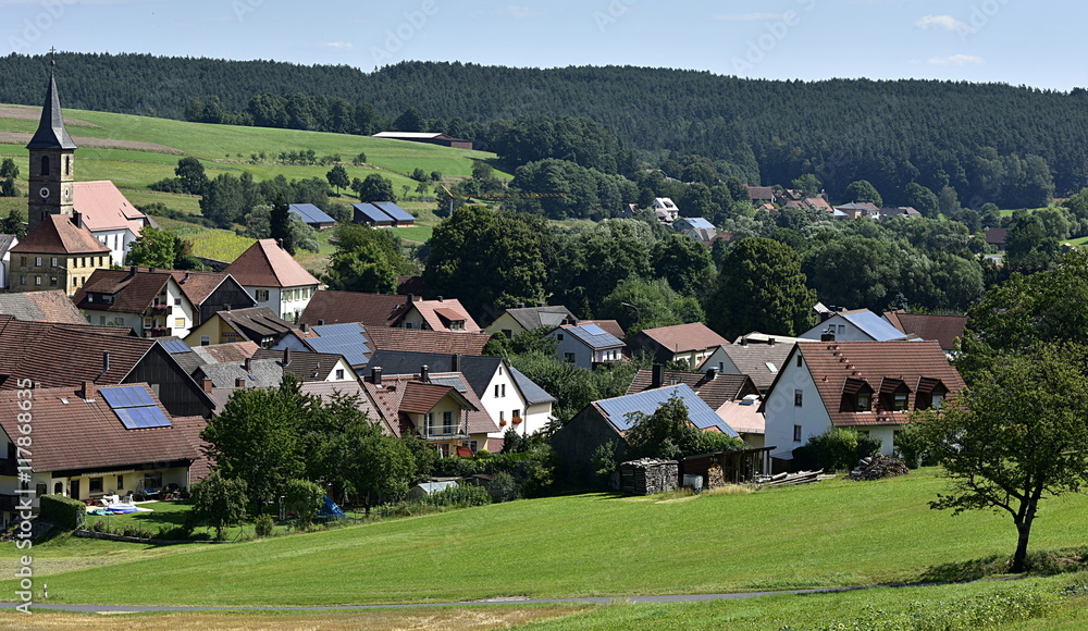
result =
M50 65L57 61L50 59ZM75 143L64 128L57 81L49 71L49 90L41 108L38 131L26 146L30 150L27 227L34 230L50 214L72 215L72 182Z

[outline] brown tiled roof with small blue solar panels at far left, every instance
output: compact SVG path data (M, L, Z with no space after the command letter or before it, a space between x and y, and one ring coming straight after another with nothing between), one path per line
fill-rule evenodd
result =
M151 388L139 385L170 419ZM20 400L14 391L0 392L0 425L9 436L20 435L15 421ZM190 443L190 432L173 425L126 430L100 394L88 403L82 388L39 388L30 400L34 404L32 463L36 472L107 469L199 457Z

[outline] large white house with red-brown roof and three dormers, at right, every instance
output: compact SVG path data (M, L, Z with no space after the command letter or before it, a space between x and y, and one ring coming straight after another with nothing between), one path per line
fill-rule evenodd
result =
M793 449L833 428L881 441L892 455L895 432L914 410L939 406L963 389L960 373L936 342L820 342L795 344L761 411L776 468Z

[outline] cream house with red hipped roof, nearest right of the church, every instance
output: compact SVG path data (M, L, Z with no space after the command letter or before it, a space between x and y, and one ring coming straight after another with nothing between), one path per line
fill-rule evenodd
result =
M246 288L258 307L298 322L320 284L275 239L260 239L224 270Z

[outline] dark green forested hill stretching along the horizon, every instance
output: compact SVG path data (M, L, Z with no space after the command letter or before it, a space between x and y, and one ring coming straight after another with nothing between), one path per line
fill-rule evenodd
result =
M46 72L42 57L0 58L0 102L38 104ZM951 185L963 201L1015 203L1011 174L1030 180L1047 171L1058 196L1088 186L1088 91L1080 88L1066 94L1001 84L780 82L668 69L435 62L363 73L74 53L58 57L57 75L71 108L184 117L194 97L215 97L224 120L246 123L254 121L254 97L270 94L288 97L288 112L305 110L288 126L368 133L354 123L355 114L373 112L366 119L379 126L416 108L428 131L469 136L485 147L503 128L496 122L528 114L589 117L651 163L669 151L706 156L724 175L753 184L815 173L832 195L868 180L894 198L918 182L932 190Z

